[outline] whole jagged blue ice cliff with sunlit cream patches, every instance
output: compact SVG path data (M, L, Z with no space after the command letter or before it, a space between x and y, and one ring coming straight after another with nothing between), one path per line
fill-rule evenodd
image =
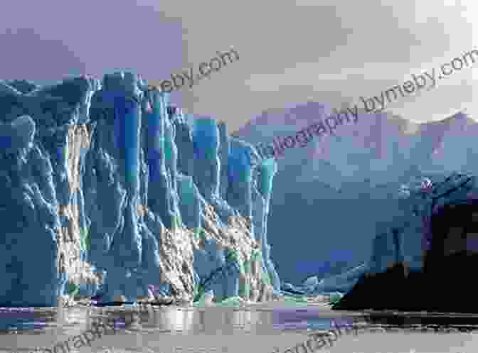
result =
M0 82L0 306L268 300L273 160L131 72Z

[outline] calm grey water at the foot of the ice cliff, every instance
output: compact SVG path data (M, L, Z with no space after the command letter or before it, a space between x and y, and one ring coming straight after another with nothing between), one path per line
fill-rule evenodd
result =
M114 320L115 332L105 332L102 337L92 340L91 347L70 347L69 352L295 353L294 349L287 349L306 342L312 332L325 332L334 325L352 322L366 325L367 320L370 326L369 316L334 312L325 305L300 308L267 305L251 308L4 308L0 309L0 353L35 352L36 347L36 352L43 353L50 348L53 353L68 353L61 347L56 351L52 347L69 338L73 342L73 337L83 335L92 329L93 322L105 318ZM378 326L384 327L383 323ZM386 332L368 329L359 331L358 335L338 337L331 347L316 352L471 353L478 348L477 338L469 333L445 335L432 330L407 331L403 327ZM298 348L297 353L302 352Z

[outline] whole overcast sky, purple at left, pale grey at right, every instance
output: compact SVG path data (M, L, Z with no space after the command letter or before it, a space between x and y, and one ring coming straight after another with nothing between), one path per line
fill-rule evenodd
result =
M131 68L161 82L232 46L240 60L171 97L234 131L264 109L309 99L359 104L431 72L478 48L477 13L475 0L2 1L0 79ZM414 121L464 108L478 116L477 72L463 68L389 108Z

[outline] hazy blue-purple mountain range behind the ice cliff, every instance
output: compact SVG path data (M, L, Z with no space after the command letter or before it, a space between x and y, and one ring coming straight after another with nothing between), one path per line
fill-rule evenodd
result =
M317 102L270 109L233 135L269 143L329 114L331 107ZM326 276L330 264L368 261L376 224L393 218L402 183L478 174L478 123L464 112L419 124L359 110L357 124L338 126L335 135L286 148L278 159L267 233L282 281L299 284Z

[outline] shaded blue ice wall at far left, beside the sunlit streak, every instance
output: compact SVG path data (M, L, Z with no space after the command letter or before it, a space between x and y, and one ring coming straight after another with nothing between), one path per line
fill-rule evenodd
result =
M65 136L90 81L11 85L0 82L0 306L54 306L68 281L57 253L58 206L71 200Z

